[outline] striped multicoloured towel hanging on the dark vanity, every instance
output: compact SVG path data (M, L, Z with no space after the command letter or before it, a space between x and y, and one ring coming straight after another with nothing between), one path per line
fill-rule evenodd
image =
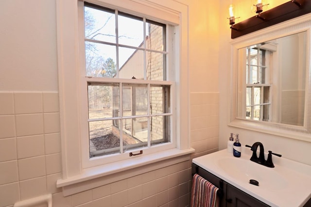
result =
M218 188L198 174L194 174L190 207L218 207Z

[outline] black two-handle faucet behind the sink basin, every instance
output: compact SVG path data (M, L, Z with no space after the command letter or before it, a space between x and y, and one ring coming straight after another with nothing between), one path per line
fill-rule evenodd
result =
M265 160L264 158L264 149L263 149L263 144L261 142L255 142L253 146L245 145L246 147L250 147L251 151L253 151L253 155L250 158L251 161L259 163L260 165L264 165L269 168L274 168L274 164L272 162L272 155L276 156L282 156L276 153L273 153L272 151L268 151L268 158ZM257 148L259 146L259 157L257 156Z

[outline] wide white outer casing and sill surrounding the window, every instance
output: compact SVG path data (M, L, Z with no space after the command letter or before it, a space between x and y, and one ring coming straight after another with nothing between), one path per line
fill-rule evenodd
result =
M175 41L178 46L172 46L172 49L177 61L174 62L174 70L172 70L174 73L171 75L175 77L173 101L176 108L173 113L175 113L176 140L175 147L172 149L135 156L130 162L123 160L95 165L84 163L82 146L85 143L81 138L80 126L81 83L78 78L81 75L79 51L83 50L79 39L79 33L82 32L79 29L79 21L84 21L78 9L83 7L84 3L80 0L56 0L63 169L63 178L57 181L57 187L63 187L65 196L189 160L190 154L194 152L194 149L190 148L188 6L175 0L155 2L141 0L139 3L132 0L90 0L89 2L175 26Z

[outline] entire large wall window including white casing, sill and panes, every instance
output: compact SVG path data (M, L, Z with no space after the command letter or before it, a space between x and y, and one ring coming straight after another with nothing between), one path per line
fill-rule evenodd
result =
M56 0L63 162L63 178L57 187L63 187L64 195L186 161L194 152L189 141L187 5L174 0L89 1L100 5ZM114 35L101 27L86 31L85 7L112 15L109 19L114 19L115 30L110 31ZM99 19L103 22L105 18ZM127 26L137 23L142 32L125 34L131 27L122 28L124 20L130 22ZM148 40L156 40L149 34L152 28L161 31L161 45L148 45ZM134 41L139 35L139 41ZM107 51L109 56L105 56ZM126 59L125 53L132 56ZM134 61L137 57L139 64ZM94 98L96 95L100 98ZM95 108L108 115L94 113ZM89 138L110 134L106 129L117 129L118 139L121 132L120 143L127 138L139 141L94 150ZM143 155L129 156L140 150Z

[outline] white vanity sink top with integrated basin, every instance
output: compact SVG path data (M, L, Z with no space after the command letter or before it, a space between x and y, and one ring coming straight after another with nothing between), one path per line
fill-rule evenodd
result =
M272 207L302 207L311 198L310 165L274 156L275 167L268 168L251 161L251 156L242 146L241 157L222 150L192 162Z

